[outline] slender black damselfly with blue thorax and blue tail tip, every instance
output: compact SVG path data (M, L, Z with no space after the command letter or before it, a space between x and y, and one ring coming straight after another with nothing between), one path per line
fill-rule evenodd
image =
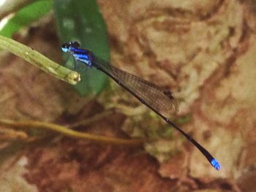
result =
M219 162L211 155L211 153L208 152L208 150L167 118L170 113L178 110L178 102L173 96L173 93L162 90L162 88L159 88L157 85L143 80L134 74L124 72L121 69L117 69L115 66L111 66L107 62L97 58L97 56L91 51L81 49L78 42L64 43L61 49L65 53L70 53L75 60L86 64L86 66L107 74L108 77L112 78L118 83L118 85L121 85L121 87L129 91L129 93L135 96L141 103L156 112L157 115L170 124L170 126L173 126L181 132L184 137L187 137L187 139L189 139L189 141L192 142L192 144L195 145L201 153L203 153L215 169L221 169Z

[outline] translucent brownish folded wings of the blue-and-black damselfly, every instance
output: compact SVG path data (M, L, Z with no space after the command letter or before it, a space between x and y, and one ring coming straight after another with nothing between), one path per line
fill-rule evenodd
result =
M143 80L134 74L124 72L115 66L110 66L110 64L101 61L99 58L94 57L93 65L96 69L108 74L108 76L123 88L126 88L127 91L136 96L142 103L145 103L148 107L151 107L166 118L178 111L178 101L170 91L162 90L159 86Z

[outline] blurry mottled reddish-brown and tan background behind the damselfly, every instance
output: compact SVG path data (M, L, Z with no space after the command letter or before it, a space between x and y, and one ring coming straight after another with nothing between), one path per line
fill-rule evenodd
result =
M33 145L1 143L15 150L1 166L0 191L256 191L256 2L98 4L112 64L172 90L180 100L177 116L192 115L182 128L211 151L222 170L213 169L177 131L171 142L157 139L146 150L50 137ZM53 15L15 39L61 64ZM70 123L130 97L112 85L116 95L108 99L108 93L99 100L80 98L69 85L7 53L0 74L1 118ZM83 131L133 136L127 116L117 112ZM135 125L143 126L143 118ZM175 153L166 158L169 145Z

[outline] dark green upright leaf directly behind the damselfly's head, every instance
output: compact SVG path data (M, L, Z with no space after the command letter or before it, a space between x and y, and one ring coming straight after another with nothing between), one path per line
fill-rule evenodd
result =
M53 4L61 42L78 41L81 47L105 61L110 59L108 32L97 2L94 0L56 0ZM69 57L67 66L72 59ZM72 66L72 65L71 65ZM78 69L81 81L75 85L80 95L97 94L107 82L105 74L95 69Z

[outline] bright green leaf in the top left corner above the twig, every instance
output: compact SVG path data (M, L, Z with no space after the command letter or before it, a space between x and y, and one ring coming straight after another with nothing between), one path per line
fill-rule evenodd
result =
M0 35L4 37L12 37L16 31L30 23L42 18L52 8L52 0L35 1L23 7L15 15L7 21L7 24L0 30Z

